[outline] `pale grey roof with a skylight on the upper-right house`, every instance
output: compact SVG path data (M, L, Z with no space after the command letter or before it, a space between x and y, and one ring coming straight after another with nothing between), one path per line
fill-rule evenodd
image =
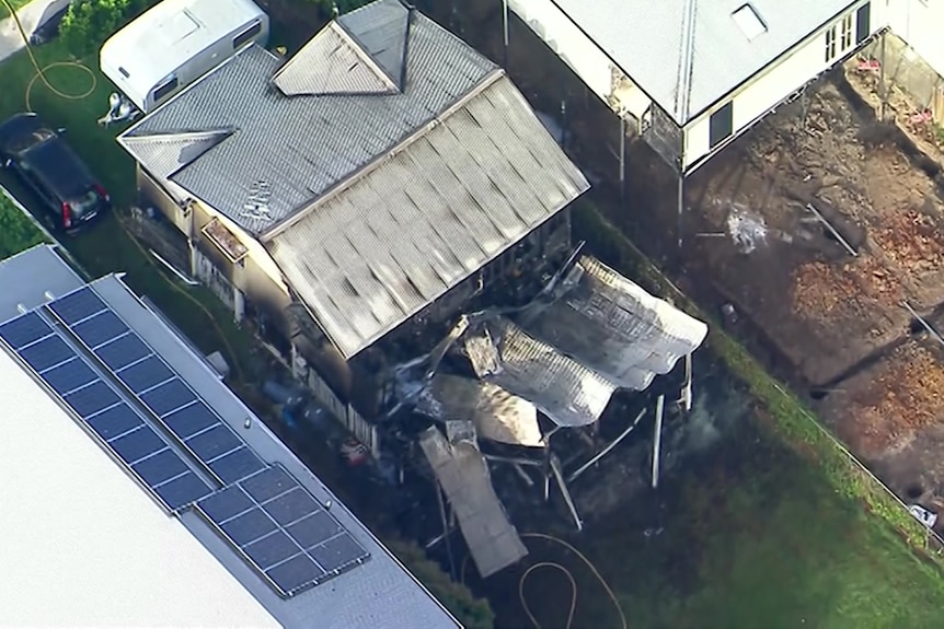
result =
M693 24L686 19L690 1ZM683 125L859 2L753 0L750 5L767 26L753 39L732 16L742 0L664 0L658 7L651 0L554 3ZM521 7L527 15L527 2ZM687 68L690 73L683 71Z

